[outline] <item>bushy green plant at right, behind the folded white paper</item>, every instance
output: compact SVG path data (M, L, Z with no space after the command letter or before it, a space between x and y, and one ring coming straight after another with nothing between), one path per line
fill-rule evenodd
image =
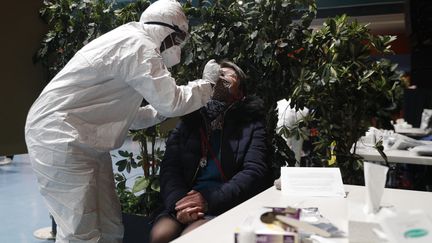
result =
M303 68L290 93L292 105L309 108L303 126L318 132L309 159L340 167L345 183L363 183L355 144L377 117L389 122L401 100L397 65L372 58L392 54L394 39L372 35L367 26L343 15L328 19L296 55Z

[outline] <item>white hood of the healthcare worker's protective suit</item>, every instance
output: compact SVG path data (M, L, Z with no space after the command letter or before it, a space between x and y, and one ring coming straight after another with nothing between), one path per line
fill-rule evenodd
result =
M161 25L144 24L145 22L162 22L177 25L182 31L188 32L186 15L180 3L175 0L156 1L141 14L140 23L142 23L144 30L147 31L154 43L160 46L162 41L174 30Z

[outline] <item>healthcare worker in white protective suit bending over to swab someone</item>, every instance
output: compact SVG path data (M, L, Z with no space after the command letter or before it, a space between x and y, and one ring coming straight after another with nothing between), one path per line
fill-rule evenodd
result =
M167 67L180 62L187 31L180 4L159 0L139 22L78 51L31 107L26 142L59 226L56 242L122 242L109 151L122 145L129 128L202 107L219 76L218 64L210 61L203 79L176 85ZM140 108L143 97L151 106Z

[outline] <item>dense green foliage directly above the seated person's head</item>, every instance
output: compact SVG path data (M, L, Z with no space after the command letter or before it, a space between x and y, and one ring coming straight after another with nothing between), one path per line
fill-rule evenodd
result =
M175 69L180 80L200 77L211 58L229 59L248 74L248 90L260 95L267 108L286 97L300 69L286 56L301 48L311 31L313 0L216 0L195 7L189 2L185 11L197 24L191 27L183 65Z

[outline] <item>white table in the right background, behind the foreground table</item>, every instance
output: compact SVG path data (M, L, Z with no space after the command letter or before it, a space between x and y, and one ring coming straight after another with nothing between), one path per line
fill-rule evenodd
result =
M432 156L419 156L416 152L408 150L385 150L389 163L406 163L418 165L432 165ZM367 161L381 161L384 159L373 148L357 149L356 154L362 156Z

